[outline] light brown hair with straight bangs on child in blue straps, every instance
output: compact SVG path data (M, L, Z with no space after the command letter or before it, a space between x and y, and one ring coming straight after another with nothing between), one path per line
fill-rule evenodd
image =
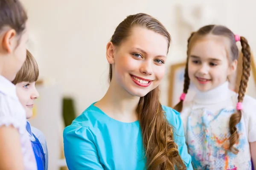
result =
M39 76L38 64L35 61L35 58L32 54L27 50L26 52L26 60L20 71L16 74L15 79L12 81L13 84L17 84L20 82L36 82Z

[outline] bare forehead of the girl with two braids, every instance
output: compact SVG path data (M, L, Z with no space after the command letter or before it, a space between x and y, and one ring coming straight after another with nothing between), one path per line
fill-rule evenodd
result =
M228 57L228 47L230 47L230 42L227 37L209 36L195 41L190 56L223 60Z

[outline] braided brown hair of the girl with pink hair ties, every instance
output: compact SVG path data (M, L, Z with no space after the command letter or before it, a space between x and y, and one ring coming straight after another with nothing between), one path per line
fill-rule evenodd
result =
M235 35L227 27L209 25L209 26L204 26L200 28L197 32L193 32L188 39L187 62L186 62L186 68L185 68L185 74L184 74L185 80L184 80L184 87L183 87L183 93L185 94L187 93L189 89L189 84L190 84L190 79L188 75L188 61L189 61L189 53L191 51L192 45L194 45L195 41L197 41L198 39L205 37L209 34L227 37L230 42L230 46L228 47L229 49L227 50L228 57L231 61L234 61L235 59L238 60L239 51L236 46ZM241 75L241 82L240 82L239 92L238 92L238 102L243 102L245 90L247 88L247 82L250 77L251 54L250 54L250 46L247 40L244 37L240 37L240 42L242 46L241 51L243 53L243 71ZM180 102L174 107L174 109L181 112L182 106L183 106L183 100L180 100ZM233 113L231 115L230 121L229 121L229 128L230 128L230 135L231 135L229 150L235 154L239 152L239 150L233 147L233 145L239 142L239 134L237 132L236 125L239 124L240 120L241 120L241 110L237 110L236 113Z

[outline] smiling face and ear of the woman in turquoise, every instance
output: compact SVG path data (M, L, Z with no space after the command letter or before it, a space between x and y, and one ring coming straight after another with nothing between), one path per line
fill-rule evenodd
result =
M108 43L107 59L113 71L111 83L132 96L145 96L164 77L167 51L168 42L163 35L135 26L119 47Z

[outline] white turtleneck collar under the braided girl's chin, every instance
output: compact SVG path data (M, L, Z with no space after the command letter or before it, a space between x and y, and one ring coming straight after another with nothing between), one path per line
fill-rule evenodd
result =
M219 85L210 91L202 92L196 89L194 101L198 104L215 104L222 102L229 97L229 82L224 82L222 85Z

